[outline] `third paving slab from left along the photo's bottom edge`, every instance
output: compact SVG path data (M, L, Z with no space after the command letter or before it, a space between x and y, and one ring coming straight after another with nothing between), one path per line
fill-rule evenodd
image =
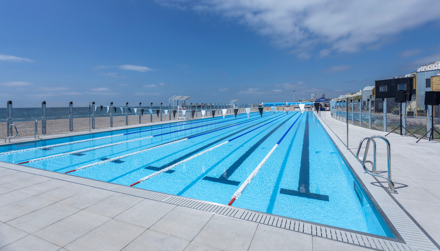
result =
M147 229L123 251L183 251L190 242L165 233Z

